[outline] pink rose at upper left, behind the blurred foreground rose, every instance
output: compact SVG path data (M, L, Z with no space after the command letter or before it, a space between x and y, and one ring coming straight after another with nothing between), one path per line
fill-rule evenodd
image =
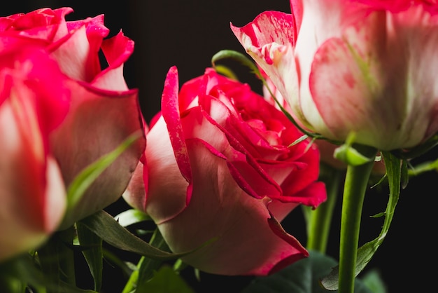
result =
M0 18L0 38L6 48L43 46L70 77L71 107L66 119L50 135L50 144L66 186L87 165L118 147L128 135L142 130L137 90L129 90L123 64L134 42L120 31L104 39L104 15L65 20L71 8L42 8L27 14ZM1 41L0 40L0 41ZM101 69L99 50L108 67ZM144 150L137 140L87 189L76 207L69 208L61 229L120 198Z

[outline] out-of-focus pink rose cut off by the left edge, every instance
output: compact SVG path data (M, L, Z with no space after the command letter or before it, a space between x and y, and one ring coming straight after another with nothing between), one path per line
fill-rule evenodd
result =
M0 260L57 229L66 191L49 135L69 109L66 77L38 47L0 51Z

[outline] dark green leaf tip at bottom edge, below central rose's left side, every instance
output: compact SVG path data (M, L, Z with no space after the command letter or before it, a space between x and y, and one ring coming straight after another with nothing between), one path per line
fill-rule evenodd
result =
M149 282L143 284L140 292L195 293L170 266L162 266Z

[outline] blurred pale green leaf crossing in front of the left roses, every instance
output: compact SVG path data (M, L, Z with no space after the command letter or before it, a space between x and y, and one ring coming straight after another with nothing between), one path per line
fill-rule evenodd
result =
M139 132L135 132L132 135L129 135L127 139L125 139L119 147L117 147L114 151L111 151L109 154L106 154L99 158L96 162L88 165L82 172L80 172L73 182L69 185L67 189L67 208L69 210L73 210L79 202L80 198L83 196L85 191L90 187L90 185L94 182L94 180L101 175L102 172L106 168L108 168L111 163L115 161L122 153L125 151L132 143L139 139L141 134Z

